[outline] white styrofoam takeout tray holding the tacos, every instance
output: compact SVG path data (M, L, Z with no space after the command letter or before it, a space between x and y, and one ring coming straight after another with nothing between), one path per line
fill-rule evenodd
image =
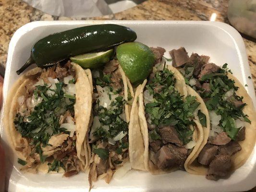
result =
M256 104L253 82L248 78L251 76L251 72L243 39L228 24L198 21L50 21L25 24L13 35L9 46L3 85L2 111L5 108L7 93L19 77L15 71L28 59L30 49L38 39L80 26L109 23L131 27L137 33L136 41L150 47L165 48L167 50L165 56L168 58L170 58L168 50L183 46L189 55L192 52L208 55L211 62L220 66L228 63L229 68L241 83L248 85L245 88ZM8 177L6 184L9 192L84 192L88 190L88 177L85 173L64 178L61 173L20 172L17 159L8 146L6 130L2 123L2 111L0 133L7 154ZM226 180L207 180L204 176L191 175L181 170L163 175L151 175L145 171L132 170L122 178L113 179L110 184L99 180L95 183L92 191L238 192L253 188L256 185L255 178L256 150L253 151L244 166L234 171Z

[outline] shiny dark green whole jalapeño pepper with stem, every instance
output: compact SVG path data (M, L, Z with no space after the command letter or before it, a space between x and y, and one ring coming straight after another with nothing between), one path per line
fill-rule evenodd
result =
M45 68L75 55L108 50L136 38L132 29L117 24L90 25L55 33L34 44L30 58L16 73L20 74L33 63Z

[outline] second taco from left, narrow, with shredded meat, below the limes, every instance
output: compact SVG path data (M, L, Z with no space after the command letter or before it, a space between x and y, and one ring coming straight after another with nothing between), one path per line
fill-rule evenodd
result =
M134 97L132 85L117 60L110 60L103 69L92 71L93 107L89 128L89 149L92 153L89 183L98 178L110 182L129 163L128 124Z

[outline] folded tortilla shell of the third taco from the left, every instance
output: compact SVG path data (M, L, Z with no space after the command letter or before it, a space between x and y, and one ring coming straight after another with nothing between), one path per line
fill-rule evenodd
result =
M201 110L206 116L206 127L201 125L197 115L194 117L195 131L193 135L195 136L195 146L185 160L184 168L187 170L200 149L205 132L209 132L209 115L202 98L192 88L186 86L182 74L170 65L167 65L166 67L174 73L176 79L175 89L183 96L183 98L188 95L195 96L196 100L200 103L198 110ZM150 160L149 134L143 100L143 92L146 83L147 80L137 87L131 109L131 120L129 125L129 134L132 137L132 140L130 140L130 161L132 168L134 169L147 170L152 174L168 173L178 169L178 167L160 169Z

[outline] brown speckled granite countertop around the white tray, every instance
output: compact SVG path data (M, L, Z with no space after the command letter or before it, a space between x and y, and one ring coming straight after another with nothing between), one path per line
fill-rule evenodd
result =
M68 18L45 14L21 0L0 0L0 64L5 66L13 33L22 25L40 20L210 20L229 23L228 0L146 0L123 12L94 18ZM244 44L256 89L256 41L244 38ZM251 192L256 192L254 188Z

